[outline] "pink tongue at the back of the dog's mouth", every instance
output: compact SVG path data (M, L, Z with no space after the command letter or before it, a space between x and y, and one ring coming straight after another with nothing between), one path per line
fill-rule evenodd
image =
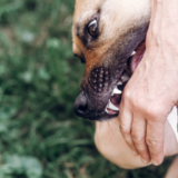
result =
M144 57L145 51L146 51L146 43L144 41L137 47L136 53L131 57L131 60L130 60L131 73L135 72L137 66L139 65L139 62L141 61Z

